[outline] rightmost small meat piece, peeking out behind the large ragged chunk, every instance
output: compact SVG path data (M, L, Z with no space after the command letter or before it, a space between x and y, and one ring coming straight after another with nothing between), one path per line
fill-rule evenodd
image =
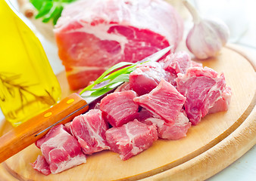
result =
M208 114L215 113L215 112L223 112L229 109L229 103L231 100L231 88L226 87L221 94L221 98L214 103L214 106L211 107L208 111Z

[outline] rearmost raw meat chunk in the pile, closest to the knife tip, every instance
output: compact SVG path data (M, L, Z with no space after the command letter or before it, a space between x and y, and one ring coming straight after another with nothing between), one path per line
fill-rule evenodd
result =
M178 73L186 73L191 66L191 58L186 51L179 51L168 55L164 60L164 69L175 75Z

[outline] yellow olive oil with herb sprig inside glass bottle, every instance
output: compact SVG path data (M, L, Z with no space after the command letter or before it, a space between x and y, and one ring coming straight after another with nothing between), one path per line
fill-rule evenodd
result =
M54 105L61 87L33 31L0 0L0 107L14 126Z

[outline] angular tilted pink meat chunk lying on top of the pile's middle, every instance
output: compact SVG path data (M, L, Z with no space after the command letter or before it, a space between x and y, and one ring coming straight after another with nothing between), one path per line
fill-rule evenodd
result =
M174 123L183 108L186 97L183 97L172 84L162 79L158 87L151 90L149 94L133 100L152 114L164 118L169 123Z

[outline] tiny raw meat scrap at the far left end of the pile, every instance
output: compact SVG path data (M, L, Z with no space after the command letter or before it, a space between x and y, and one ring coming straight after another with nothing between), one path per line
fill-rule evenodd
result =
M46 162L45 157L42 155L38 155L36 161L32 164L35 170L38 170L44 175L49 175L51 173L49 164Z

